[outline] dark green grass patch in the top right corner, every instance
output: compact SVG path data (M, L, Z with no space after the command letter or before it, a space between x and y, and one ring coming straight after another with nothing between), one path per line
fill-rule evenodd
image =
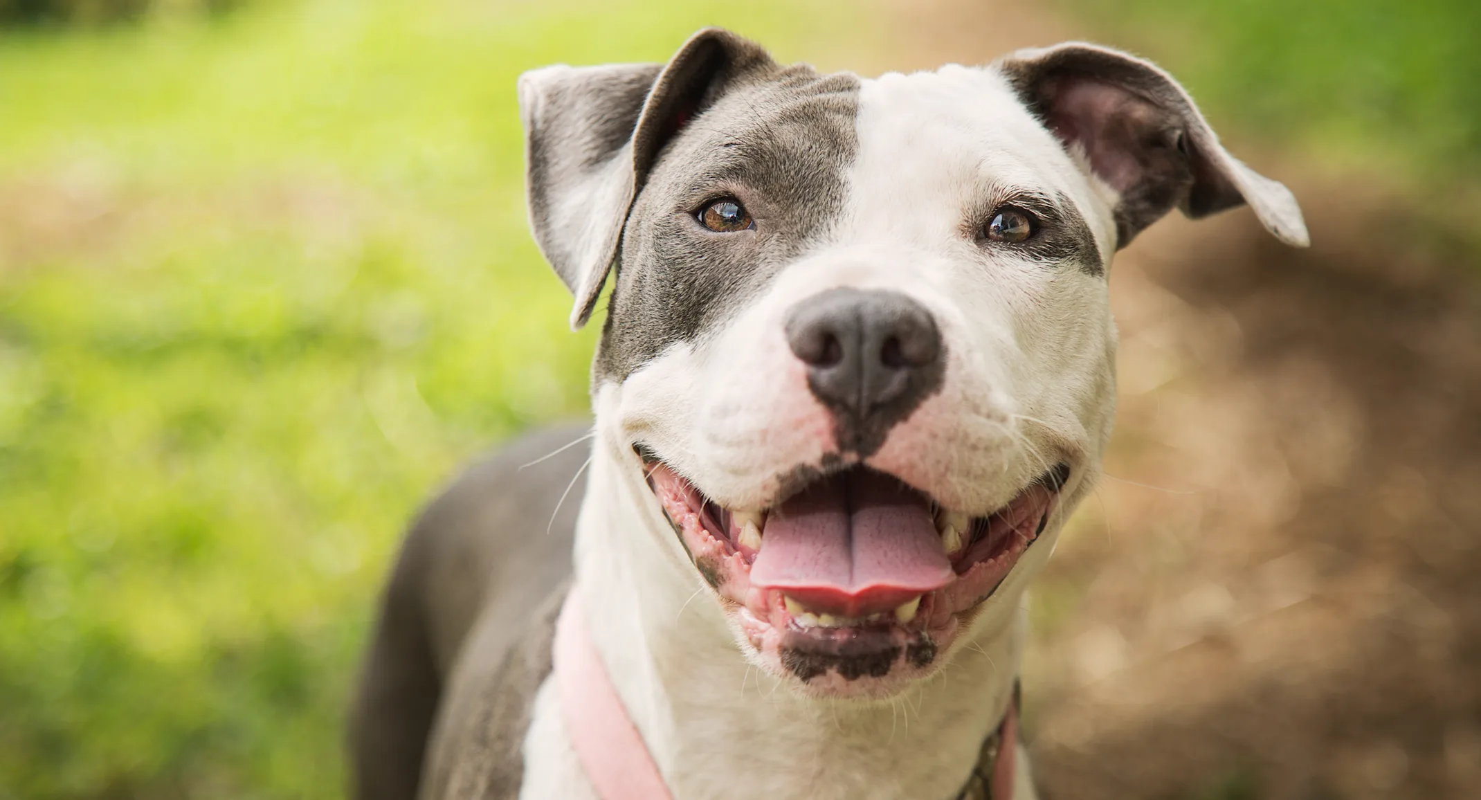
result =
M1179 77L1214 127L1333 172L1481 179L1481 3L1071 0Z

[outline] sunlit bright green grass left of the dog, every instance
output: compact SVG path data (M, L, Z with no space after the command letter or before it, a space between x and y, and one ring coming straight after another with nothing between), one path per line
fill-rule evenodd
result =
M326 0L0 34L0 799L342 793L404 521L586 407L514 79L711 22L782 56L837 24Z

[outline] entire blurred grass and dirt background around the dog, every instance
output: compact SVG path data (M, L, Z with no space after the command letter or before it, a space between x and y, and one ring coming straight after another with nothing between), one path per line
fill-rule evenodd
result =
M0 799L342 794L403 524L586 409L514 79L705 24L863 74L1131 49L1306 209L1112 270L1047 797L1481 797L1481 3L0 0Z

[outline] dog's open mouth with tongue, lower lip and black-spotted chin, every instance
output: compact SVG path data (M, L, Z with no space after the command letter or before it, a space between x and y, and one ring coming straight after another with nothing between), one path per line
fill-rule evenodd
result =
M935 674L1043 533L1069 476L1063 464L1049 470L977 517L857 465L769 508L732 510L640 452L748 661L819 698L887 699ZM823 524L837 519L853 527ZM829 536L847 541L818 542Z

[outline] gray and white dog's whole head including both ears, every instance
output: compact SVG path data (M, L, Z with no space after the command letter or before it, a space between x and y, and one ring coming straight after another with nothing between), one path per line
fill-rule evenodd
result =
M521 105L573 323L616 271L598 428L743 655L815 695L1012 613L1111 431L1118 247L1243 201L1305 240L1176 83L1084 44L860 80L702 31Z

